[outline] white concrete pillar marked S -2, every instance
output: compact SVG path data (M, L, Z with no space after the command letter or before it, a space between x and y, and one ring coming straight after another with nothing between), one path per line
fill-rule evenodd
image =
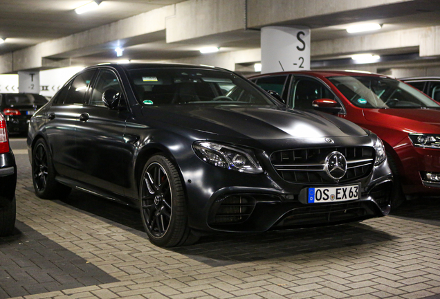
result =
M262 73L310 69L310 28L262 28Z

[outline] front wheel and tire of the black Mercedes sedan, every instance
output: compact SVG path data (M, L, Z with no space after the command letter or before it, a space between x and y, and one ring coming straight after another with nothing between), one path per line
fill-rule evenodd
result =
M187 226L181 177L168 158L161 154L149 158L139 186L140 215L152 244L174 247L197 242Z

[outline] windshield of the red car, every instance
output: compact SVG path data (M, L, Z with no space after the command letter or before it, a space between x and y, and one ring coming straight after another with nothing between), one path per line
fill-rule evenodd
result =
M356 107L361 108L440 108L428 96L391 78L335 76L328 78Z

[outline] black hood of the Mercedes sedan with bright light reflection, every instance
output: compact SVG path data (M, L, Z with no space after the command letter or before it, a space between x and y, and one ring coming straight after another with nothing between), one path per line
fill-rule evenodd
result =
M367 135L358 125L336 116L275 107L158 106L143 107L143 114L178 127L257 140Z

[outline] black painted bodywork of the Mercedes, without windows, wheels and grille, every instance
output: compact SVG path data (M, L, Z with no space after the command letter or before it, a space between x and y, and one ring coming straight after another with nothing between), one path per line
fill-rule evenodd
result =
M187 194L190 228L249 232L268 230L287 212L304 207L297 194L305 196L302 190L306 185L288 183L279 177L269 161L272 152L327 147L325 138L329 136L336 147L374 145L375 137L353 123L319 112L286 109L275 100L272 107L141 105L126 73L127 69L136 67L145 66L95 66L95 69L109 69L118 74L125 88L122 98L127 101L120 109L52 106L53 101L40 109L32 119L28 135L30 159L33 144L37 138L44 138L50 146L57 181L135 205L139 198L140 172L147 158L162 152L178 167ZM201 66L185 68L203 69ZM81 120L85 115L87 119ZM307 128L313 134L305 134ZM245 174L205 163L194 154L194 141L215 141L253 150L265 171ZM363 197L359 202L366 203L369 210L365 218L389 212L389 206L379 207L368 192L378 184L389 183L392 175L387 163L374 169L368 176L353 182L362 184ZM211 226L209 218L214 202L237 193L257 194L259 202L252 217L244 224Z

